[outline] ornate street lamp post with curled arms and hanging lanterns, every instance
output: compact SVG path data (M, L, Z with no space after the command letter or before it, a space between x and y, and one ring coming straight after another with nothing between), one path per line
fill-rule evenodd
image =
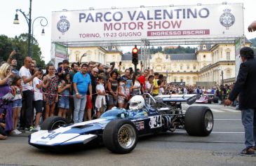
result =
M32 23L32 19L31 19L31 11L32 11L32 0L29 0L29 13L26 15L25 12L21 11L21 9L16 9L16 14L15 14L15 19L13 21L13 24L18 25L20 24L19 18L18 18L18 11L20 11L20 13L22 13L22 15L25 17L26 21L27 21L27 25L29 26L29 36L28 36L28 48L27 48L27 53L29 55L29 57L32 57L32 53L33 53L33 39L31 37L33 37L34 34L34 21L38 18L41 18L40 24L42 27L46 27L46 25L48 25L48 20L45 17L37 17L34 19L33 23ZM43 24L42 22L46 21L45 24ZM32 25L32 27L31 27ZM32 34L31 34L31 30L32 30ZM42 35L45 34L44 29L42 30Z

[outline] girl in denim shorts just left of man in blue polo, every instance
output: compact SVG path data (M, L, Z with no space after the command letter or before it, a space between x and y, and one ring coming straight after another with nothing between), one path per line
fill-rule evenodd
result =
M69 109L69 92L72 90L71 88L72 86L69 74L64 74L63 79L58 85L58 93L60 94L58 116L62 118L66 118L67 110Z

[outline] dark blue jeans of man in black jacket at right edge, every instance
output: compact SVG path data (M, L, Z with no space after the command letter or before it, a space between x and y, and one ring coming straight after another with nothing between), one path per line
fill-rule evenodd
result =
M255 146L256 141L256 113L255 109L242 110L242 123L245 128L245 146Z

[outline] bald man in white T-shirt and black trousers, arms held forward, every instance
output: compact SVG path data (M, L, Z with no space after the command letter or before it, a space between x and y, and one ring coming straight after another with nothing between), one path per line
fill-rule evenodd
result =
M26 57L24 60L24 66L20 68L20 77L22 78L22 92L23 92L23 98L25 100L25 119L21 119L21 125L25 125L22 127L27 127L30 130L33 130L32 127L32 118L33 118L33 78L38 76L40 74L40 71L36 71L34 75L32 76L30 74L29 68L32 63L31 57ZM21 117L22 118L22 117ZM23 124L22 124L23 123Z

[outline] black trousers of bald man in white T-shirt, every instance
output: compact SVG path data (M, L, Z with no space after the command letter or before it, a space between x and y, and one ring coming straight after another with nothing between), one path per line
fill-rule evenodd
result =
M33 97L34 92L32 90L25 90L23 91L23 97L25 99L25 106L26 106L26 111L25 111L25 117L26 117L26 125L25 127L30 127L32 126L32 120L33 120Z

